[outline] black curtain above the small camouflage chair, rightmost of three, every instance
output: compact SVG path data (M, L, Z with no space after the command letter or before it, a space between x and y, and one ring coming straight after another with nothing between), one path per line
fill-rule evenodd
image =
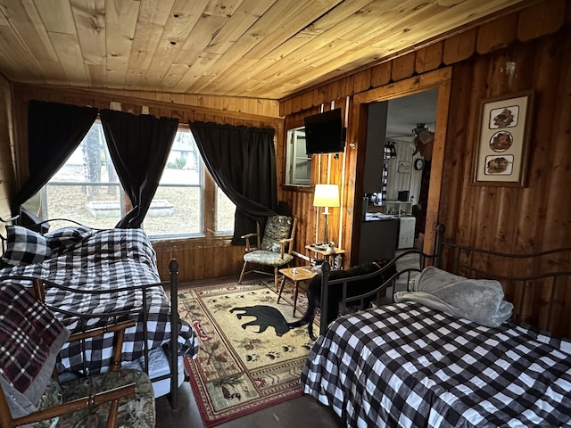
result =
M274 129L190 122L190 130L214 181L236 205L232 244L255 232L277 211Z

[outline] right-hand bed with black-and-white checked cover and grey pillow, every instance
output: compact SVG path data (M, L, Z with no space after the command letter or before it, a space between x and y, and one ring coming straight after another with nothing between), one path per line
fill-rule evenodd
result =
M571 342L522 321L528 307L526 290L538 294L540 288L548 288L548 294L561 296L558 287L570 285L571 249L546 251L535 255L535 262L446 243L437 249L434 256L416 251L418 268L401 269L390 284L382 285L392 289L392 303L343 315L322 329L302 370L302 390L332 407L347 426L571 425ZM425 267L428 259L438 263L441 251L448 253L447 270ZM516 260L509 268L512 275L492 275L483 268L497 267L490 260L499 257ZM553 270L519 276L513 274L517 264ZM459 275L452 275L452 270ZM443 283L441 275L456 282ZM404 289L399 291L401 276ZM434 284L440 287L438 292L460 282L498 292L495 283L500 283L491 276L501 278L509 291L509 296L501 294L506 299L499 302L501 309L496 308L499 319L490 321L487 315L479 319L476 316L482 312L474 315L468 304L444 311L443 301L430 301ZM323 278L322 289L327 289L325 273ZM450 303L448 296L439 296L437 300ZM350 305L343 302L341 307ZM557 325L549 321L558 319L553 315L557 299L542 307L550 313L527 314L528 321ZM505 309L510 309L511 317L501 312ZM559 318L565 317L560 312Z

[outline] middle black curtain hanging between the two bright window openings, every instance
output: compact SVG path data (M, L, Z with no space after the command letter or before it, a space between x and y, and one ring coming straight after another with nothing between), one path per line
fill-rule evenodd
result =
M116 227L141 227L177 134L178 119L100 111L109 152L133 209Z

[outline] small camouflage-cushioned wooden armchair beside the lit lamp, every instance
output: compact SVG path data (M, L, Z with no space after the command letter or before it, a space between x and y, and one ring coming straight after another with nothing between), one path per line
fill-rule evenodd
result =
M246 240L246 252L244 254L244 267L240 273L238 284L242 284L244 274L253 272L253 270L246 272L246 265L251 263L273 268L274 284L276 285L277 290L278 270L288 265L289 262L294 259L292 250L296 225L297 218L295 217L272 216L269 217L266 222L263 239L261 239L261 241L260 223L256 226L255 234L242 236ZM252 245L251 241L253 238L256 239L255 247Z

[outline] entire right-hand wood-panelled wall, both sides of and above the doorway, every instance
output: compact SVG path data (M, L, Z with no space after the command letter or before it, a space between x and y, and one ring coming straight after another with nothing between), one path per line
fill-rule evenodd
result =
M328 108L329 103L335 100L365 94L379 86L390 87L401 79L414 82L417 75L451 65L443 186L440 206L434 207L437 209L434 219L446 226L445 240L520 254L571 247L571 203L567 201L567 186L571 183L570 23L569 2L539 2L486 22L477 29L374 65L370 70L359 70L282 100L280 111L285 114L285 128L299 123L305 115L319 111L321 106ZM515 73L506 72L507 62L515 62ZM473 185L479 101L523 89L534 91L526 186ZM351 129L358 126L349 123L349 134L360 135ZM353 155L356 151L352 151L352 143L359 142L349 141L343 153L343 169L333 164L325 175L334 183L346 183L355 188L355 177L363 162ZM324 172L319 170L323 175ZM352 216L359 197L357 194L353 200L346 201L343 217ZM306 225L315 224L317 213L311 207L311 191L286 187L284 198L291 203L294 213L303 217ZM343 219L341 221L343 223ZM344 224L347 223L345 219ZM298 250L304 243L314 240L314 228L307 226L299 231L296 238ZM330 229L334 228L335 225L330 224ZM343 232L343 242L350 245L351 240L352 230L347 229ZM519 269L523 269L524 274L532 275L546 267L568 271L570 258L571 255L546 258L537 265L493 258L482 259L479 263L484 270L507 269L507 273L517 275ZM550 284L540 281L528 284L531 292L527 293L528 300L522 304L524 319L543 327L549 326L555 333L571 336L571 320L567 315L571 311L571 284L565 285L558 284L551 298L553 290ZM520 292L510 284L506 284L506 292L509 299L516 300L518 305ZM550 305L553 305L555 313L547 319Z

